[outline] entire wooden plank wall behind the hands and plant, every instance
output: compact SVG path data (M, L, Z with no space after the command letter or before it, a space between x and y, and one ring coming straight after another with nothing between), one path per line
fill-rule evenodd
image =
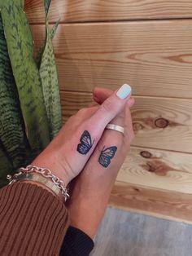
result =
M35 49L42 0L26 0ZM133 141L111 205L192 223L192 2L52 0L63 121L91 90L133 87Z

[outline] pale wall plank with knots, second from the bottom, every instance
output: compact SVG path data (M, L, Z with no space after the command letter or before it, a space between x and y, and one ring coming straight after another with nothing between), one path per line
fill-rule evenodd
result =
M132 147L117 181L192 194L192 155Z

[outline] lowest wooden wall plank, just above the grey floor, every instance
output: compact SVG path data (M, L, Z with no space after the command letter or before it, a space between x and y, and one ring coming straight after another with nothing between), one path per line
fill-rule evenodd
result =
M192 195L116 182L109 205L120 209L192 223Z

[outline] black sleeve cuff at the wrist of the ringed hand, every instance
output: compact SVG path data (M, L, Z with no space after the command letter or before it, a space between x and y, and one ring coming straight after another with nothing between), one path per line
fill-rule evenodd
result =
M60 256L87 256L94 248L94 241L76 227L68 227Z

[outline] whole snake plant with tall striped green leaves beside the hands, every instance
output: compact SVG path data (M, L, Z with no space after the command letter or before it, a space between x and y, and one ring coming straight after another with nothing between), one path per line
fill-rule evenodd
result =
M0 187L6 175L33 160L59 131L59 83L44 0L46 40L33 58L24 0L0 0Z

